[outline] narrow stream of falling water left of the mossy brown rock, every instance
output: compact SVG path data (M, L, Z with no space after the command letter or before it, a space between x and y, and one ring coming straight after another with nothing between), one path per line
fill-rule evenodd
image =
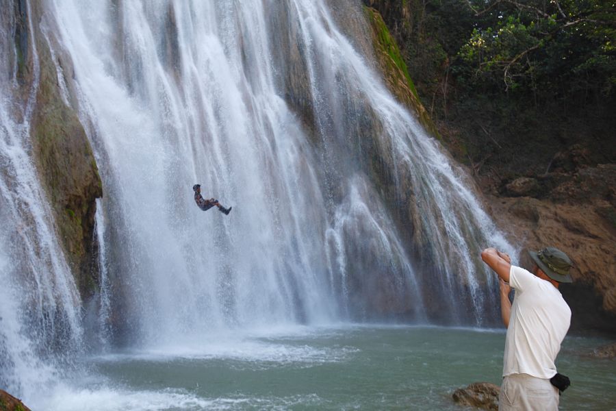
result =
M12 56L12 24L2 23L0 50ZM81 349L83 330L81 299L29 152L38 77L17 105L15 62L3 58L0 74L0 386L31 395L57 377L57 349ZM33 64L36 73L36 57Z

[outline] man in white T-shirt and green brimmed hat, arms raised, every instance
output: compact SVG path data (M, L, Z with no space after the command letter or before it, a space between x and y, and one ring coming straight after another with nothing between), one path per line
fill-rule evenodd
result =
M552 382L558 384L556 379L564 376L556 373L554 362L571 323L571 309L559 284L572 282L569 269L573 264L554 247L529 254L535 262L532 273L511 265L511 258L494 248L481 253L481 259L500 277L500 308L507 327L499 410L559 408L559 388ZM515 290L513 306L511 288Z

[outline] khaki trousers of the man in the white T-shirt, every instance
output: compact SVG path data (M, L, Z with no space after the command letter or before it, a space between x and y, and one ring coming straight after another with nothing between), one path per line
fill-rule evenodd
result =
M559 389L549 379L512 374L502 379L498 410L558 411Z

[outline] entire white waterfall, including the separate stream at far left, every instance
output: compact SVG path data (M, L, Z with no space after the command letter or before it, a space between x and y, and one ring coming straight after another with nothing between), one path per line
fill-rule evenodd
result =
M156 346L392 313L435 321L431 295L446 297L450 323L496 318L478 254L513 249L383 84L354 28L359 2L40 3L30 32L40 24L52 55L68 56L54 58L58 85L103 180L97 319L82 316L29 152L35 93L15 110L16 58L3 58L0 384L34 386L27 370L55 364L41 352L51 340L84 349L84 321L103 346ZM387 161L389 197L372 154ZM199 210L197 183L231 214ZM409 195L410 211L387 200ZM410 231L396 213L413 216Z

